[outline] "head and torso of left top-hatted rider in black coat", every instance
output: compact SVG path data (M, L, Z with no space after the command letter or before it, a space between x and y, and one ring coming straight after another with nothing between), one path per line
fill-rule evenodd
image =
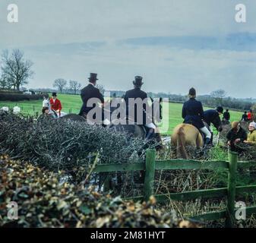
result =
M87 115L91 109L96 107L96 103L93 103L93 106L90 106L90 104L88 103L90 99L98 99L99 103L101 103L102 105L104 103L103 94L100 93L100 90L95 87L96 80L98 80L97 74L90 73L90 77L88 77L88 79L89 84L87 85L87 87L84 87L84 89L81 90L83 106L81 107L79 115Z

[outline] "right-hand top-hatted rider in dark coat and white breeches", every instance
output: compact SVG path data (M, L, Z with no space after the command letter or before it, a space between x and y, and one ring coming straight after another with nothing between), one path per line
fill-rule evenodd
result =
M125 104L126 104L126 115L128 118L132 118L133 122L137 123L138 125L144 125L147 128L146 139L149 140L153 137L154 132L156 131L156 125L153 124L150 106L147 103L147 93L141 90L142 84L142 77L136 76L135 80L133 81L134 89L128 90L125 93ZM133 103L129 102L129 99L133 99ZM137 103L139 101L139 104ZM141 105L141 106L140 106ZM138 108L138 110L137 110ZM138 117L137 115L141 115ZM142 120L142 121L141 121Z

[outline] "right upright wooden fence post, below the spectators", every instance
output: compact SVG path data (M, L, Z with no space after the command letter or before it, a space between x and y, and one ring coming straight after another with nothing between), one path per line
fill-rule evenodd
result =
M226 210L226 227L232 228L235 222L235 184L238 154L229 153L228 197Z

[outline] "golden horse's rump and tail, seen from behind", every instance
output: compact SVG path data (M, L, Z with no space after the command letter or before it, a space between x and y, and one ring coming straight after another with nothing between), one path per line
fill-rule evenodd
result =
M178 158L189 159L190 156L188 155L186 147L190 146L195 149L201 149L204 146L204 140L198 128L190 124L182 123L174 128L171 145L176 148L175 152Z

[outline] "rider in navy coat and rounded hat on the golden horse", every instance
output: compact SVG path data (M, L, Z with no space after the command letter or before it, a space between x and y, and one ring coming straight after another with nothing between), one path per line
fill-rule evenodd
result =
M196 91L191 88L188 93L189 99L183 104L182 118L184 123L194 125L201 132L205 134L205 145L210 144L210 131L204 125L202 119L204 118L204 110L202 103L195 99Z

